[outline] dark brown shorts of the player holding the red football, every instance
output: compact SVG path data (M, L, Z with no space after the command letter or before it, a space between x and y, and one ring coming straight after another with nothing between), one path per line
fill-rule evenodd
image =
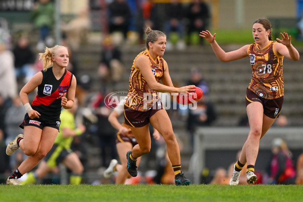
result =
M130 109L124 105L124 120L125 123L131 127L139 128L143 127L149 123L149 118L156 114L156 112L163 109L162 103L158 105L158 102L155 104L156 107L151 108L146 112L140 112L133 109ZM156 108L156 109L155 109Z

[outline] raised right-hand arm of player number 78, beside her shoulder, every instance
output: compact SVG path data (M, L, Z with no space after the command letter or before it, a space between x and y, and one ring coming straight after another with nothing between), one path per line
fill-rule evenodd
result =
M275 49L279 55L285 56L289 60L297 61L300 58L299 52L293 45L291 44L291 36L284 32L283 34L280 33L282 36L282 40L277 38L277 43L275 45Z

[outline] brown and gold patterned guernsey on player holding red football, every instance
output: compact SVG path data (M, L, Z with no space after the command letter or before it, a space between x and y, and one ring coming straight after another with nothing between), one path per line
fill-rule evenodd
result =
M150 57L148 49L139 53L134 59L129 77L129 89L125 106L136 111L146 112L160 100L160 97L158 91L150 89L139 68L135 67L136 59L139 56L145 56L149 59L150 71L153 72L158 83L166 67L164 59L159 56L157 60L154 61L154 59Z

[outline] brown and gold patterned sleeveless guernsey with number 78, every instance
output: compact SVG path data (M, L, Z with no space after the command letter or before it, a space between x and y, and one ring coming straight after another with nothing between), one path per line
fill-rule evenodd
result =
M275 51L277 41L270 41L263 49L257 43L248 46L252 68L252 78L248 89L265 99L275 99L284 95L283 58Z

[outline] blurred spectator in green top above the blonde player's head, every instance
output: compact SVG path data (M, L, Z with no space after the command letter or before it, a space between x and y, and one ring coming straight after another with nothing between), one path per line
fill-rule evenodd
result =
M42 51L45 43L48 46L53 45L54 39L50 36L55 23L55 5L51 0L39 0L34 4L31 12L31 19L40 32L40 38L36 48Z

